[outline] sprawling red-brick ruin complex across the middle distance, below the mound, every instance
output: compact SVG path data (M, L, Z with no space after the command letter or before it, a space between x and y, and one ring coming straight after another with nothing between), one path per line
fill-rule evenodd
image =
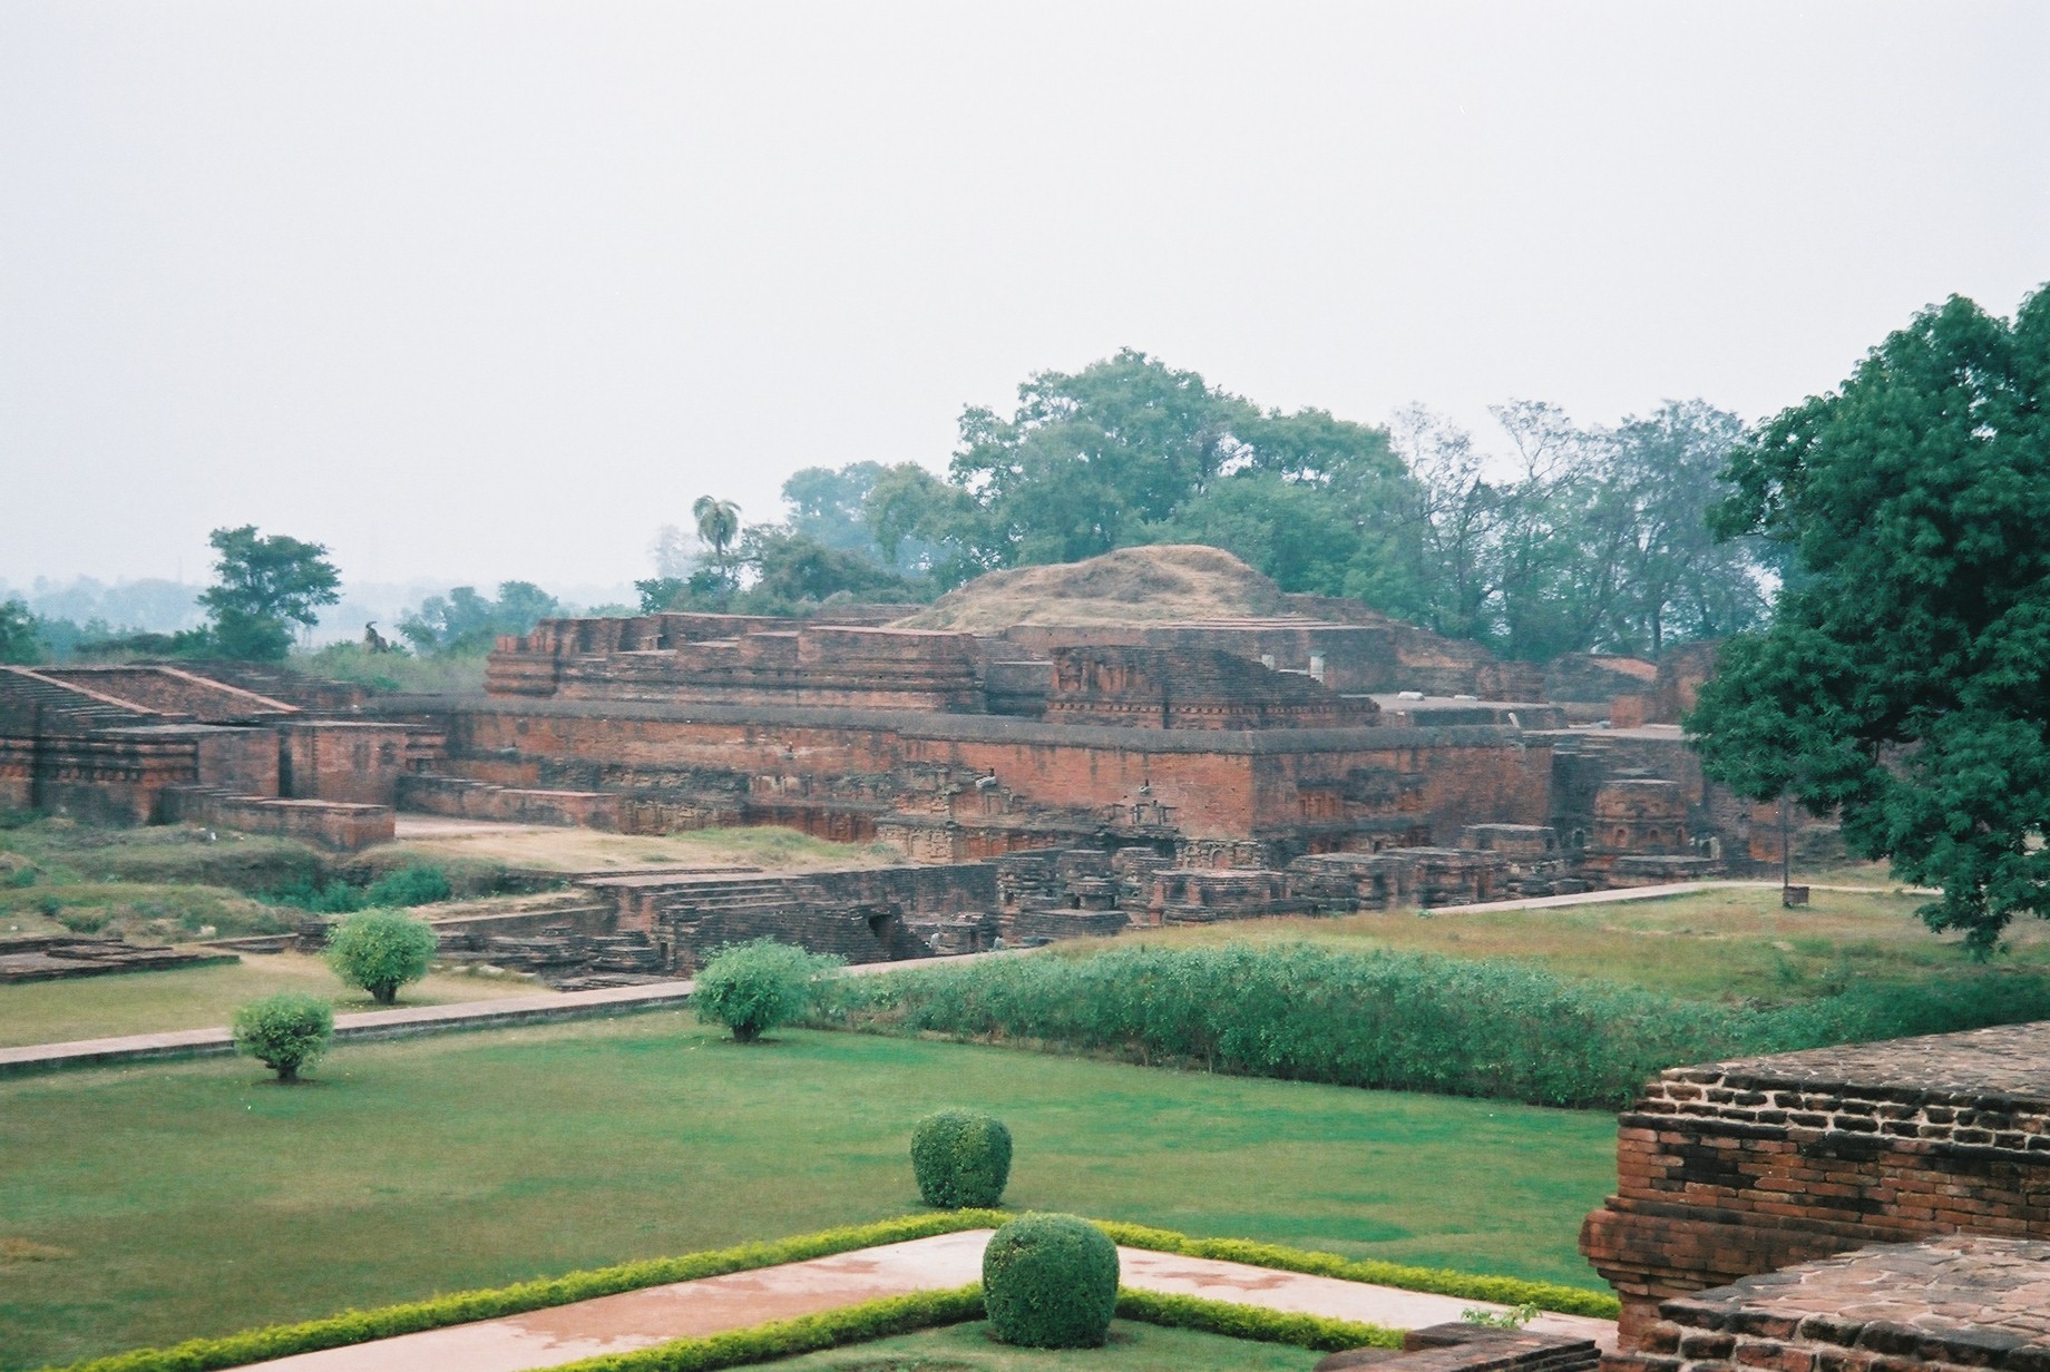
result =
M623 833L787 825L920 866L988 864L961 878L994 893L974 909L886 899L877 928L968 924L935 926L939 942L855 940L863 956L1761 862L1771 815L1710 784L1677 725L1607 727L1632 694L1617 682L1648 698L1665 668L1503 663L1353 610L1000 633L873 623L886 612L558 618L498 643L482 696L373 696L234 663L8 668L0 807L340 852L389 840L396 811ZM1710 657L1677 661L1675 700ZM820 913L806 942L840 940L836 919ZM619 930L689 967L689 938Z

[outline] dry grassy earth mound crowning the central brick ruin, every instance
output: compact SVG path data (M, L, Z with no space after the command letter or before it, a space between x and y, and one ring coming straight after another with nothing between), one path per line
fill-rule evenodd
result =
M1289 596L1224 549L1164 543L1052 567L990 571L898 629L1000 633L1015 625L1168 625L1199 618L1332 618L1330 604ZM1380 618L1351 604L1345 618Z

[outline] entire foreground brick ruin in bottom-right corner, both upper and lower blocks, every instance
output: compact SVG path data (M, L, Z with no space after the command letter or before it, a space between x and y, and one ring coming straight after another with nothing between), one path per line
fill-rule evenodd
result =
M1581 1251L1609 1372L2050 1368L2050 1024L1679 1067Z

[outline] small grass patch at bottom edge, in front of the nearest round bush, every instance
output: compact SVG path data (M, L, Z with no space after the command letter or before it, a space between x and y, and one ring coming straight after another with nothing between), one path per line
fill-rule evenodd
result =
M1226 1339L1130 1319L1111 1323L1111 1341L1103 1347L1004 1347L990 1339L988 1321L976 1321L761 1366L787 1368L789 1372L1070 1372L1080 1368L1089 1372L1207 1372L1210 1368L1292 1372L1314 1368L1322 1356L1287 1343Z

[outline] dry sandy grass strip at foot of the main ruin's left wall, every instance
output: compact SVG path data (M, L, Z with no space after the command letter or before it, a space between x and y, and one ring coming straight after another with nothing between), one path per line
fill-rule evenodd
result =
M541 872L611 872L633 866L890 866L904 854L888 844L830 844L797 829L693 829L636 835L545 825L500 825L400 817L400 842L371 848L375 866L404 862L498 862Z

